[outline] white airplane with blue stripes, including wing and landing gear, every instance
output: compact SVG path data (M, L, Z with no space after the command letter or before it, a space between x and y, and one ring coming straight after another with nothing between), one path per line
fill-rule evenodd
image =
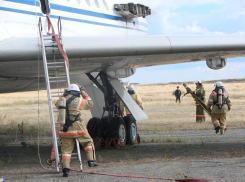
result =
M210 69L227 58L245 57L245 36L150 36L150 7L136 0L0 0L0 93L46 89L39 26L56 32L62 21L62 44L69 58L72 83L79 83L94 101L88 123L92 137L120 135L135 144L136 121L147 119L119 79L137 68L206 60ZM150 4L150 3L149 3ZM60 17L60 18L59 18ZM41 21L40 21L41 20ZM47 55L47 58L52 58ZM62 55L56 57L64 60ZM65 84L60 84L65 88ZM133 116L119 119L116 95Z

